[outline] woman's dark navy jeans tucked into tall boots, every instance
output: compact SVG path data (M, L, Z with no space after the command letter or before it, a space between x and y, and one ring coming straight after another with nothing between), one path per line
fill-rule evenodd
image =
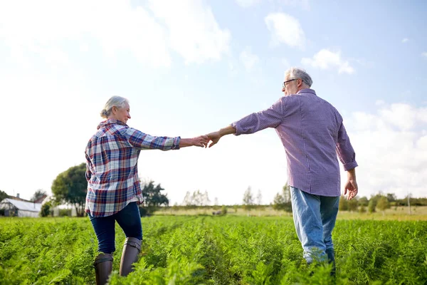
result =
M115 221L125 232L126 237L142 240L141 217L137 202L127 204L120 212L108 217L92 217L88 214L98 240L98 252L115 252Z

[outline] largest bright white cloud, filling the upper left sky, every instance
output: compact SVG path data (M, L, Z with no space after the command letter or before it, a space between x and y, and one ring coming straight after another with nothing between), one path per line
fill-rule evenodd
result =
M23 64L26 53L64 63L63 43L77 42L87 51L88 37L100 43L107 58L125 50L154 67L171 65L171 49L188 63L219 59L228 51L230 33L218 28L201 1L155 1L150 7L130 1L1 1L0 38ZM36 48L29 51L31 46Z

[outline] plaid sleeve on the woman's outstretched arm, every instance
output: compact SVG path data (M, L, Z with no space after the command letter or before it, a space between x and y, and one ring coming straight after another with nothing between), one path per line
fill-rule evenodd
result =
M134 128L127 128L127 140L141 150L179 150L181 137L154 137Z

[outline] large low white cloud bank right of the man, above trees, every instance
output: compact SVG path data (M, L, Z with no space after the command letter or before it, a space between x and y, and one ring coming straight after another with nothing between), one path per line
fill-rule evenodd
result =
M361 196L381 191L426 197L426 113L427 108L394 103L344 118L359 163Z

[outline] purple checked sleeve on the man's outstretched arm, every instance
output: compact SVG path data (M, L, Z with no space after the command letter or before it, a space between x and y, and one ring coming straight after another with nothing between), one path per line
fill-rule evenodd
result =
M247 115L231 125L236 128L236 135L256 133L265 128L277 128L283 121L283 100L280 99L270 108Z

